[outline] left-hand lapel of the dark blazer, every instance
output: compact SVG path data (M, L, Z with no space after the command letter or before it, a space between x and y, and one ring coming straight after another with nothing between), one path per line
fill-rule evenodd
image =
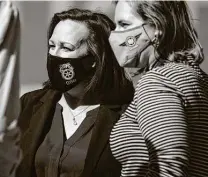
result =
M20 172L24 176L33 176L31 173L34 172L35 153L51 126L59 97L60 95L56 91L49 90L33 107L29 128L21 140L24 143L22 144L22 150L25 153L22 164L27 165L27 167L20 168L24 169L24 172Z

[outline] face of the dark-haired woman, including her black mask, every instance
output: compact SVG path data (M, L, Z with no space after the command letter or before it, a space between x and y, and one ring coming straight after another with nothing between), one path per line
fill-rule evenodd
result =
M94 71L94 58L88 55L85 24L60 21L49 39L47 70L52 87L66 92L86 80ZM84 57L83 57L84 56Z

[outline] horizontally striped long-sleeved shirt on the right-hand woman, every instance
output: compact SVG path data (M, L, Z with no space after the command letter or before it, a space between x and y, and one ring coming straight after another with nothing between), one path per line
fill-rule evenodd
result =
M208 76L194 63L147 72L110 146L122 177L207 177Z

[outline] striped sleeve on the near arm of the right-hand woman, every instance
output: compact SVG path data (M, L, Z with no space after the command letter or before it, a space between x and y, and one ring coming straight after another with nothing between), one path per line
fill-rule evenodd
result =
M136 105L137 120L150 155L146 177L189 176L183 93L161 74L147 74L138 82Z

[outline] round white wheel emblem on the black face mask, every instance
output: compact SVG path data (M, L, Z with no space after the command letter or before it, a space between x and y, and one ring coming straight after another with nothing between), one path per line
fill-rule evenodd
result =
M60 65L59 72L61 73L62 78L65 80L71 80L75 75L74 68L70 63Z

